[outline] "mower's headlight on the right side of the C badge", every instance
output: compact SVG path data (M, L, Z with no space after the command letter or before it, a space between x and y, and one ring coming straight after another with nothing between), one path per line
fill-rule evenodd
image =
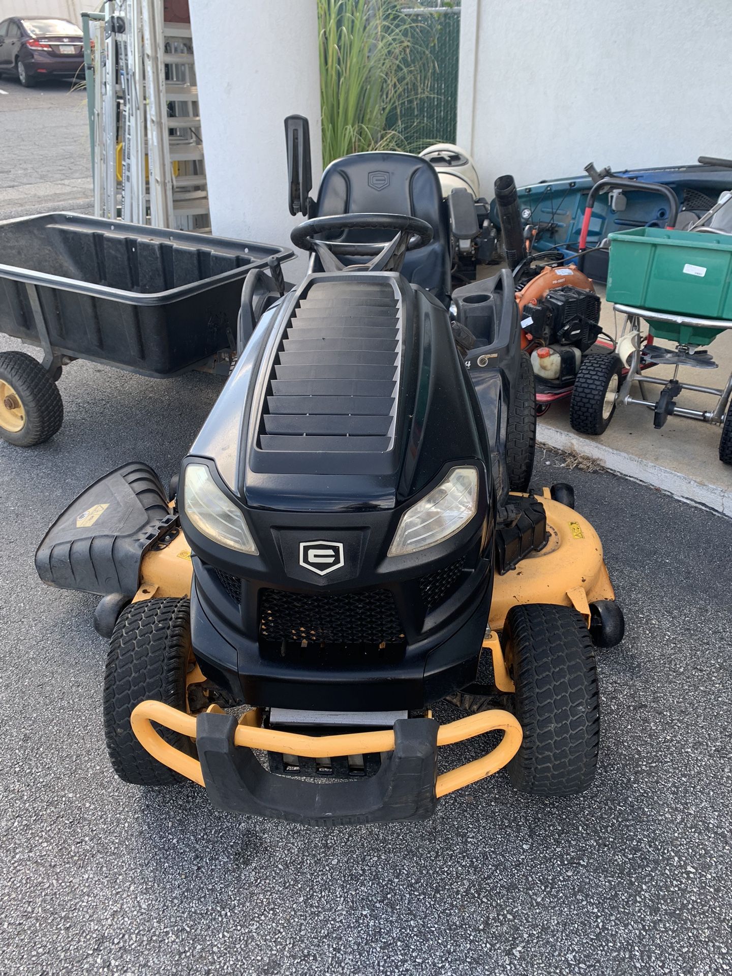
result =
M444 542L469 522L477 508L477 468L453 468L444 481L404 512L388 554L406 555Z

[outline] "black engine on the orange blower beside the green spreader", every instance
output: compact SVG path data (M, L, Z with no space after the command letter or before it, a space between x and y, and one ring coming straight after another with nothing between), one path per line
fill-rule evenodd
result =
M544 346L577 346L585 352L600 334L599 296L571 285L547 292L536 305L525 305L523 314L524 327Z

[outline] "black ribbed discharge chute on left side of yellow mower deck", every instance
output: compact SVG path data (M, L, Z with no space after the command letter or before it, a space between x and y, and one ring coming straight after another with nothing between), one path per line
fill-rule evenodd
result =
M35 567L53 587L134 596L142 556L177 524L152 468L124 465L66 508L38 547Z

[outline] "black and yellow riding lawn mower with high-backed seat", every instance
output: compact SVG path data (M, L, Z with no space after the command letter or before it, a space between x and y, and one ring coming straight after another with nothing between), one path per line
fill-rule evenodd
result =
M236 364L170 492L118 468L36 554L46 583L102 595L111 763L322 826L424 819L504 766L525 793L578 793L593 647L623 615L571 488L530 488L511 275L450 295L427 161L347 156L313 201L306 120L286 128L305 279L247 278ZM444 700L466 714L440 724ZM440 747L495 731L439 770Z

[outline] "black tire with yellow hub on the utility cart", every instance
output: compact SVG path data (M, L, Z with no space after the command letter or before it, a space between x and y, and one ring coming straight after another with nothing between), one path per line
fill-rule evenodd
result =
M31 447L62 423L61 393L43 366L25 352L0 352L0 437Z

